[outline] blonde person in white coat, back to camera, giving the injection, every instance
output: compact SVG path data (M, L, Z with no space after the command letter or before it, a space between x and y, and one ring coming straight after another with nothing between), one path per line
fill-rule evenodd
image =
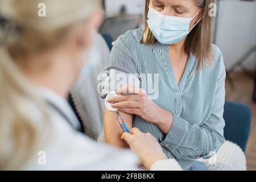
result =
M180 169L138 129L122 135L137 156L76 132L65 97L101 22L100 1L0 3L0 169L139 169L137 156L147 169ZM46 17L38 16L39 3Z

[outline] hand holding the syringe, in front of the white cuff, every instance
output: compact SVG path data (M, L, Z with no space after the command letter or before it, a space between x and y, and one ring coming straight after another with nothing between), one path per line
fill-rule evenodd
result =
M129 144L131 151L138 155L141 164L148 170L156 161L167 159L158 140L150 133L144 134L139 129L133 128L131 133L123 133L121 139Z

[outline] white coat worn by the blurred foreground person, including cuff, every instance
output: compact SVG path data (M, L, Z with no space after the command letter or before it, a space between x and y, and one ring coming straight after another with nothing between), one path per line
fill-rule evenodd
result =
M79 127L75 114L67 101L47 89L42 89L44 99L51 101ZM41 91L40 91L41 92ZM51 107L50 107L51 108ZM32 113L32 111L31 111ZM36 111L35 111L36 113ZM51 129L47 142L40 145L25 170L139 170L138 158L130 150L121 150L95 142L77 132L55 109L51 111ZM42 152L45 155L42 155ZM40 155L38 155L40 154ZM45 157L45 158L44 158ZM42 160L42 158L44 158ZM45 163L44 163L45 162ZM161 160L152 170L180 170L174 159Z

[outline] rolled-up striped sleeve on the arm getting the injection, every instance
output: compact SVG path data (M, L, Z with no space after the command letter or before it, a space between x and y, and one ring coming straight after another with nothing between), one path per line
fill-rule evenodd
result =
M139 67L121 35L114 43L110 64L101 72L98 93L102 98L125 85L140 86Z

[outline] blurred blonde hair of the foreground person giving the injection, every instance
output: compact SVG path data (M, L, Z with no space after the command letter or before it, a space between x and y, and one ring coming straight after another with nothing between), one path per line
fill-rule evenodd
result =
M39 3L46 5L46 17L38 16ZM99 0L0 0L0 170L22 169L36 157L49 126L47 106L16 60L58 46L96 9ZM31 113L34 107L39 113ZM35 114L42 121L34 121Z

